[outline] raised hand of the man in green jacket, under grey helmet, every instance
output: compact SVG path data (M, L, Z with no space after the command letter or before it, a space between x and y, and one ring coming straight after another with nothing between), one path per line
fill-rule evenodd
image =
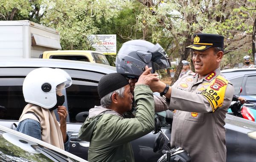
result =
M146 70L140 75L137 83L135 83L135 85L138 84L145 84L148 85L149 87L151 87L151 84L159 81L159 78L157 78L158 74L151 74L150 70L152 68L148 68L148 66L146 66Z

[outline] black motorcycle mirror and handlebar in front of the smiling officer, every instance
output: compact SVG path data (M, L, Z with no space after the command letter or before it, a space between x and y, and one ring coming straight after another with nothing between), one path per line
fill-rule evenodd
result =
M153 130L153 134L157 134L157 137L154 141L154 147L153 151L157 152L163 148L165 145L165 148L167 150L162 150L163 156L161 156L157 162L190 162L191 157L189 156L189 153L186 152L181 147L175 147L171 148L171 142L170 139L166 136L166 134L161 130L161 122L158 117L155 118L155 127ZM167 146L166 141L167 139Z

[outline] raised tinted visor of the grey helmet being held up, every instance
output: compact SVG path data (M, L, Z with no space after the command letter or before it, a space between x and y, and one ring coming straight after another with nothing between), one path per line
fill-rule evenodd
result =
M149 51L152 53L151 61L154 71L170 67L168 55L160 44L157 43Z

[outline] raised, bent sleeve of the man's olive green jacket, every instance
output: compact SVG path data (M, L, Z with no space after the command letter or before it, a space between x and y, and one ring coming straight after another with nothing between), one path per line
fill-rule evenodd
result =
M151 89L146 85L137 85L134 89L137 103L135 118L123 119L116 115L104 115L101 121L105 135L109 136L112 145L130 142L149 133L154 128L154 98ZM100 122L101 122L100 121Z

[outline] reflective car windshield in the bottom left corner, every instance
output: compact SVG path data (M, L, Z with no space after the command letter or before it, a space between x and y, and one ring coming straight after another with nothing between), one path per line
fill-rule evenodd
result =
M16 134L0 130L1 162L78 162Z

